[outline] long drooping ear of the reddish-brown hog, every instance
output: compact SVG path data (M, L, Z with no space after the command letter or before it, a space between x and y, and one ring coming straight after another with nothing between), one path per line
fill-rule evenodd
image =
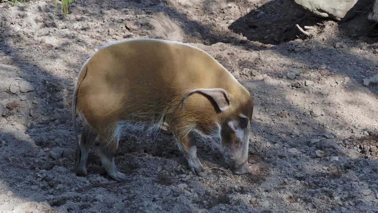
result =
M184 102L187 99L187 97L191 96L194 93L200 93L204 96L207 96L214 100L214 102L217 104L219 110L221 112L227 110L230 107L230 100L228 99L227 92L224 89L220 88L214 88L214 89L194 89L193 91L189 92L187 94L182 102L182 108L184 108Z

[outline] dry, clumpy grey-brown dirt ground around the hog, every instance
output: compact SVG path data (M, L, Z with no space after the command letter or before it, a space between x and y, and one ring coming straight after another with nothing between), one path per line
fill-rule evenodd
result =
M378 86L363 86L378 73L378 32L367 8L334 22L286 0L77 0L65 18L51 1L0 6L0 212L378 212ZM127 181L112 182L94 148L89 175L75 175L78 72L99 45L131 38L199 47L251 92L249 174L232 175L200 143L204 166L221 169L193 175L164 130L122 138Z

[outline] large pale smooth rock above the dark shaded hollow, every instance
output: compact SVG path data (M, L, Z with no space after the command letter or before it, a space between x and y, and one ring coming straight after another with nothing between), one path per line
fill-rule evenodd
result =
M291 0L299 9L314 16L341 20L358 0Z

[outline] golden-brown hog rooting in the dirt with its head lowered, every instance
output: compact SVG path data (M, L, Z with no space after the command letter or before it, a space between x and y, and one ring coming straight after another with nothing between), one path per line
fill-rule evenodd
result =
M147 127L146 131L153 132L167 122L191 170L204 176L192 133L217 135L226 143L244 130L234 128L228 135L222 130L231 127L231 121L245 117L248 135L243 137L248 137L253 101L248 90L206 52L179 42L132 39L103 47L84 64L73 100L74 121L76 108L85 121L77 147L76 172L86 174L88 151L99 136L99 155L105 169L113 179L123 180L125 175L118 172L113 161L122 124ZM232 154L231 160L236 157L243 161L232 161L235 170L243 167L245 171L246 143L234 146L242 150Z

